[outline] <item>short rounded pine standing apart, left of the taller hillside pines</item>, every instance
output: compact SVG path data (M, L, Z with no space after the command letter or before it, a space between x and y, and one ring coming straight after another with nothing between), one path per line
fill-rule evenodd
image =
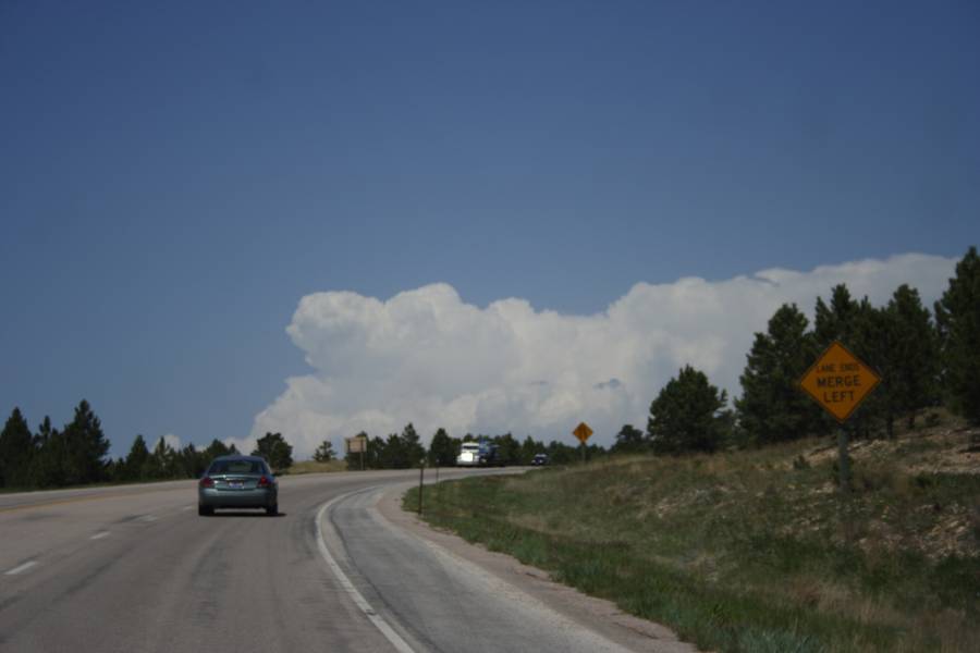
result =
M714 452L722 443L725 391L685 366L650 405L647 436L657 453Z

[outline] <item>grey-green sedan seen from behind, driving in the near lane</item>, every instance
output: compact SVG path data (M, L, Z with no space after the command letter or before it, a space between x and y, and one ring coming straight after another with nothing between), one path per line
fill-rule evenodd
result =
M197 514L216 508L265 508L279 514L279 483L260 456L220 456L211 460L197 483Z

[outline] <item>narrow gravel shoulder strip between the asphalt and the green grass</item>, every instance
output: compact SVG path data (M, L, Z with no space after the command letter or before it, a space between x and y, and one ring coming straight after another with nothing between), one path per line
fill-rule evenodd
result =
M633 651L693 653L694 644L682 642L670 628L628 615L611 601L587 596L558 583L548 572L519 563L510 555L488 551L443 530L437 530L401 507L407 485L393 485L378 500L378 513L390 523L465 563L479 566L500 580L541 601L551 609L581 624Z

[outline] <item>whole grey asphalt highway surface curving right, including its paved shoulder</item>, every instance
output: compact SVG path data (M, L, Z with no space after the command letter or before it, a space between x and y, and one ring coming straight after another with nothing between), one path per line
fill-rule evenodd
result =
M0 495L0 651L630 650L383 518L417 479L281 478L279 517L199 517L193 481Z

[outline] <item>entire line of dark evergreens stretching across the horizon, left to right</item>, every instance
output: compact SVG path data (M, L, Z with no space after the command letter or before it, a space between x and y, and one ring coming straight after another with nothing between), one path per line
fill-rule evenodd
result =
M761 446L831 432L836 423L798 386L799 379L833 341L841 341L881 375L880 385L847 421L854 436L893 438L895 424L915 424L923 410L945 405L970 423L980 423L980 257L970 247L957 263L933 310L922 305L916 288L903 284L885 306L867 297L852 297L845 284L832 288L829 301L817 299L812 328L788 304L770 318L764 333L756 333L739 379L742 396L728 409L727 396L708 377L685 366L650 405L646 431L624 424L609 453L677 454L713 452L725 446ZM463 442L488 439L505 465L528 465L547 453L556 464L571 463L580 449L561 442L549 444L530 435L523 442L511 433L451 438L444 429L428 449L409 423L387 439L367 439L366 469L408 469L422 460L451 466ZM36 433L14 408L0 432L0 488L57 488L98 482L145 481L199 477L216 456L237 453L215 440L204 449L188 444L174 449L162 438L150 452L137 435L124 458L107 457L109 441L87 402L74 410L61 430L46 417ZM281 433L266 433L254 455L265 456L273 469L292 465L292 446ZM588 447L595 457L605 451ZM324 442L318 460L333 457ZM347 456L347 468L359 469L360 456Z

